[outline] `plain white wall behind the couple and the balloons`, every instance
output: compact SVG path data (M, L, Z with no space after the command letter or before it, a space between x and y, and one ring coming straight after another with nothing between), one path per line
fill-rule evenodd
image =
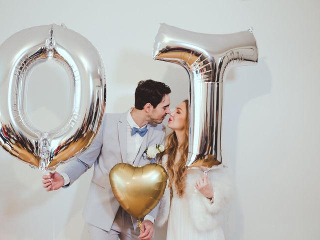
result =
M170 85L172 106L187 97L185 70L151 57L158 23L206 33L253 26L259 63L233 68L224 84L222 153L237 186L226 234L232 240L316 240L319 10L318 0L1 0L0 43L23 28L64 23L99 49L106 111L122 112L141 79ZM32 73L27 110L39 127L64 119L68 87L66 74L52 64ZM0 239L87 239L81 210L92 170L55 192L42 189L41 174L0 149ZM164 235L159 229L156 239Z

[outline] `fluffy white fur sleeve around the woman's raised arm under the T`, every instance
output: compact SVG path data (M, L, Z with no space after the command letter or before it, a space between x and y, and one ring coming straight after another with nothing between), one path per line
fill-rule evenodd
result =
M225 208L233 194L233 184L226 168L208 171L213 187L213 198L210 201L195 188L196 180L203 174L199 170L189 170L187 176L187 198L194 225L201 231L213 229L220 225L221 210Z

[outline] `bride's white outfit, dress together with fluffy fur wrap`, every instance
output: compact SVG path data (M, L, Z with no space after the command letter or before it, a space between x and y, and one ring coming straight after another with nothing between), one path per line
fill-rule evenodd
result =
M167 156L162 157L162 165L166 168ZM234 185L228 175L227 168L208 171L208 179L213 187L213 199L210 201L195 188L196 180L203 172L187 169L184 195L179 197L172 186L166 187L160 201L155 223L162 226L168 219L167 240L224 240L221 228L223 210L232 197Z

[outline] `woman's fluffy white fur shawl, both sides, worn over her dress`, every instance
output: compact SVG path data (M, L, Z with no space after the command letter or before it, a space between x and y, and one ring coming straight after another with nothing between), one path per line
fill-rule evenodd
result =
M162 157L162 165L166 168L166 156ZM213 199L210 201L200 192L194 194L196 180L203 172L195 169L187 170L186 188L183 197L188 199L190 215L194 225L200 231L206 231L220 225L220 212L231 198L234 189L227 168L217 168L208 171L208 178L213 187ZM168 182L168 181L167 181ZM162 226L168 218L170 206L170 190L166 187L160 200L160 206L155 219Z

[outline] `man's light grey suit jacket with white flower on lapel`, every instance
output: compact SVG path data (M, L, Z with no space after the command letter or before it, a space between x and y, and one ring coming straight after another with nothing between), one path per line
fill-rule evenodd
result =
M109 171L120 162L126 163L126 126L127 114L106 113L98 135L90 147L76 159L66 164L63 172L70 177L71 185L81 174L83 174L94 163L94 172L89 187L87 202L83 210L83 218L88 223L101 229L109 231L119 208L115 199L110 182ZM147 124L141 147L134 160L134 165L142 166L150 163L144 159L143 151L150 145L163 144L165 127L162 124ZM66 187L68 187L67 185ZM149 213L156 217L158 206ZM136 228L137 221L133 217L132 224Z

